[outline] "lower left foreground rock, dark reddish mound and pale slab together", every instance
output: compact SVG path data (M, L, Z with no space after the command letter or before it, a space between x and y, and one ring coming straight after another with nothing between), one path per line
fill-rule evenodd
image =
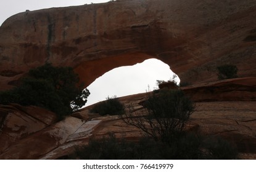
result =
M87 144L91 136L101 137L110 131L114 131L118 137L124 132L130 137L139 136L136 128L125 126L116 116L91 116L89 120L84 120L76 113L76 117L70 115L53 123L55 115L45 110L40 112L42 110L16 104L0 107L0 159L59 158L73 152L75 146ZM78 113L83 116L89 114L86 109ZM39 119L47 122L35 119L38 115L41 115Z

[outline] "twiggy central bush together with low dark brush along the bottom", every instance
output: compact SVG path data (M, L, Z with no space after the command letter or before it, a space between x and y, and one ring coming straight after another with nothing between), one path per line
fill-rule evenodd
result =
M147 93L143 108L131 104L120 119L141 130L139 141L116 138L113 133L91 139L64 158L75 159L234 159L236 149L222 138L186 130L196 104L182 90Z

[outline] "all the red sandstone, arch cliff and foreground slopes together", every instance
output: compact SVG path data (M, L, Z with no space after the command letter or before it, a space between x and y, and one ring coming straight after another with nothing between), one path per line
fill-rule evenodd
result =
M90 84L117 66L159 58L182 81L203 82L183 88L199 104L191 126L225 136L254 155L243 158L255 158L255 11L254 0L131 0L23 12L0 27L0 90L46 61L73 66ZM244 78L208 83L223 63ZM120 101L139 109L144 98ZM35 106L1 105L0 159L59 158L109 131L138 138L136 128L88 108L56 123Z

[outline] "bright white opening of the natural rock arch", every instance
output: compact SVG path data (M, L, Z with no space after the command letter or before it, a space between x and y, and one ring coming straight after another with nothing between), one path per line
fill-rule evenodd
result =
M85 106L105 100L108 96L126 96L146 92L156 88L157 80L173 77L170 66L155 58L144 60L133 66L122 66L105 72L87 88L91 95ZM180 83L177 77L176 82Z

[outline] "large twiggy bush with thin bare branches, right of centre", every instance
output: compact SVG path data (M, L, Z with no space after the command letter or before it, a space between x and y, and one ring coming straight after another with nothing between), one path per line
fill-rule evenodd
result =
M182 90L159 90L148 93L144 108L130 109L120 118L155 139L169 143L172 136L181 135L195 104Z

